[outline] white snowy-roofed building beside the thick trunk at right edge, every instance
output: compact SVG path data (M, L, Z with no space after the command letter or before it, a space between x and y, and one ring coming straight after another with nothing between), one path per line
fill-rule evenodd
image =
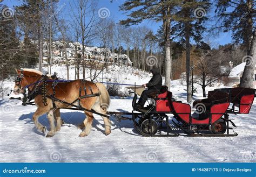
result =
M230 75L228 75L228 79L230 81L230 87L237 87L240 84L242 73L244 73L245 65L246 63L242 62L240 65L234 67L231 70ZM256 65L254 67L253 79L254 79L253 80L254 88L256 89Z

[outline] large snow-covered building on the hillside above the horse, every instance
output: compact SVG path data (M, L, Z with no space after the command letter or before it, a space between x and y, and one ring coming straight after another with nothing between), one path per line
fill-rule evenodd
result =
M80 43L67 43L65 41L54 41L52 43L52 63L62 64L65 62L65 51L64 46L66 47L66 52L68 55L68 60L70 64L75 62L76 52L77 54L82 54L83 45ZM77 48L77 50L76 50ZM43 43L43 60L44 64L47 65L49 59L49 48L47 43ZM132 62L129 56L125 54L116 54L111 53L109 48L99 48L99 47L88 47L85 46L85 59L86 60L97 60L97 61L109 61L123 63L124 65L132 65Z

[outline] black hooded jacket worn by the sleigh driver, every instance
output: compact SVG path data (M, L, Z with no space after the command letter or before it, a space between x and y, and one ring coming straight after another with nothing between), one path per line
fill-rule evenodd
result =
M162 77L160 75L160 72L157 68L153 68L150 71L152 72L153 77L151 78L149 83L146 84L147 89L157 89L159 91L162 86Z

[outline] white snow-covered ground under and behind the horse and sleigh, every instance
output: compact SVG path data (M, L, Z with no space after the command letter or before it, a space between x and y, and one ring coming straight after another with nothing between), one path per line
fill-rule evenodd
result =
M64 68L53 68L65 78ZM150 74L133 68L110 68L104 81L119 75L119 82L138 84L149 81ZM71 78L72 79L72 78ZM99 78L99 81L101 79ZM110 82L111 82L110 81ZM11 89L14 82L5 82ZM185 82L184 82L185 84ZM171 91L178 100L186 100L185 85L172 81ZM201 97L198 86L195 99ZM207 90L223 87L215 83ZM131 111L131 99L111 99L110 111ZM131 121L117 122L111 117L112 132L104 135L104 123L95 115L89 136L78 137L76 125L85 118L82 111L62 110L66 124L52 138L36 130L32 115L36 107L23 107L21 101L0 100L0 162L256 162L256 105L249 115L232 115L238 125L237 137L142 137ZM172 118L172 115L170 115ZM39 121L48 126L46 116Z

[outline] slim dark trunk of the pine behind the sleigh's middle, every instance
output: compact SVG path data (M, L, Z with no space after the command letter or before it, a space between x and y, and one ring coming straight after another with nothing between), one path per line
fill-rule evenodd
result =
M192 101L192 89L190 78L190 26L185 24L185 40L186 40L186 83L187 83L187 102Z

